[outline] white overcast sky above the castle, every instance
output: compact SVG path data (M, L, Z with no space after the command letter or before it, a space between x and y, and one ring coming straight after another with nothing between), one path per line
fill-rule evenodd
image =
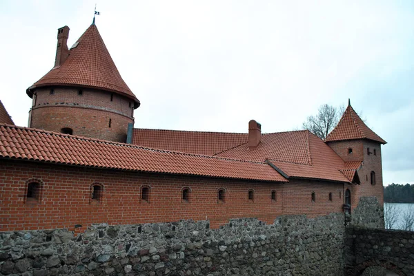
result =
M135 127L299 129L351 104L388 142L384 184L414 183L414 1L0 1L0 99L27 126L26 88L92 23L141 101Z

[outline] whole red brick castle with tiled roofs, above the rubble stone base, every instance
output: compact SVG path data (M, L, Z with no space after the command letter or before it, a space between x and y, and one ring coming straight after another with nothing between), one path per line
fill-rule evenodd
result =
M358 224L362 198L382 206L386 142L351 104L326 140L262 134L255 120L243 134L134 129L140 102L95 23L70 48L68 36L59 28L55 66L26 91L28 127L0 104L0 231L183 219L217 228L344 206Z

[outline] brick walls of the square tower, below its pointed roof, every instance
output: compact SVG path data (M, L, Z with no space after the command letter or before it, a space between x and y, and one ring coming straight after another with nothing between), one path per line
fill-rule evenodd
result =
M375 196L382 205L384 203L384 188L382 186L382 157L381 144L371 140L349 140L339 142L329 142L331 147L345 161L363 161L362 167L357 171L360 185L347 185L351 190L351 205L355 209L359 198L363 196ZM348 148L353 149L352 154L348 154ZM367 148L372 154L368 156ZM373 151L377 155L374 156ZM375 172L375 185L371 185L371 171Z

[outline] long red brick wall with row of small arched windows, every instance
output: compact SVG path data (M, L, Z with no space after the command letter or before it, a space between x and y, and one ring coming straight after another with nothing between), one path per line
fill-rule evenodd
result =
M39 203L27 202L27 182L43 182ZM101 202L90 200L92 183L103 185ZM143 185L150 187L150 203L141 202ZM181 202L181 190L189 187L190 202ZM217 190L226 189L225 202ZM248 190L254 200L249 202ZM271 200L271 191L277 201ZM316 201L311 202L315 191ZM333 202L328 193L333 193ZM0 160L0 231L22 229L83 229L92 223L137 224L181 219L210 220L212 227L230 218L257 217L273 223L286 214L311 216L342 211L342 184L293 180L287 184L221 180L88 169L81 167Z

